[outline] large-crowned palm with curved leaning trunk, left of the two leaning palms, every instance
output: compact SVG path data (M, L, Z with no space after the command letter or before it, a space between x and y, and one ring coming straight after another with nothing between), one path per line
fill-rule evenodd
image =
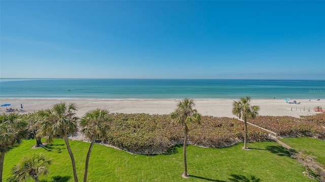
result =
M52 142L57 136L61 136L67 145L67 150L71 158L73 175L75 182L78 182L76 162L72 154L68 135L74 135L78 131L76 103L60 102L54 104L51 109L40 111L39 115L42 117L40 123L41 135L46 136L46 141Z

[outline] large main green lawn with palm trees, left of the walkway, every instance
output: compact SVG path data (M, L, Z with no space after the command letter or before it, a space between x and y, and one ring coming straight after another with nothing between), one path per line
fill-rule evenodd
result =
M52 158L50 173L42 181L73 181L70 157L62 139L44 148L31 149L35 140L24 140L5 155L4 179L23 156L44 153ZM79 181L83 179L84 162L89 143L70 142ZM304 144L304 143L303 143ZM190 177L183 172L182 147L174 147L169 155L133 155L95 144L90 156L88 181L314 181L303 175L304 168L289 157L289 152L276 142L243 143L229 148L187 147ZM29 180L32 181L32 180Z

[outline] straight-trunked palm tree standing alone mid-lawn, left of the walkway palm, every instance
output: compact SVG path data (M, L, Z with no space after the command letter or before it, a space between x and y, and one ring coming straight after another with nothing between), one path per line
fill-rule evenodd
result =
M183 156L184 156L184 173L183 177L188 177L187 174L187 163L186 163L186 144L187 144L187 133L188 127L191 123L199 123L201 121L201 114L198 113L195 106L194 100L184 98L182 101L178 101L176 110L171 113L173 122L184 126L184 143L183 143Z

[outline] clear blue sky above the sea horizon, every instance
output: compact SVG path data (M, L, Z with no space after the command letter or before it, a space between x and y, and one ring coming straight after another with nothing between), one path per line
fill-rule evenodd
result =
M325 1L1 1L1 78L325 80Z

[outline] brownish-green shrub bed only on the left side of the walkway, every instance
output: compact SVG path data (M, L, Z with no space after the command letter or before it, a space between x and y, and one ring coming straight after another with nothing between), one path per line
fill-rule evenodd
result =
M183 144L183 127L169 115L111 114L113 120L106 141L119 149L136 154L165 153ZM268 141L266 131L247 126L248 141ZM243 141L243 122L235 118L203 116L201 124L189 128L188 142L203 147L227 147Z

